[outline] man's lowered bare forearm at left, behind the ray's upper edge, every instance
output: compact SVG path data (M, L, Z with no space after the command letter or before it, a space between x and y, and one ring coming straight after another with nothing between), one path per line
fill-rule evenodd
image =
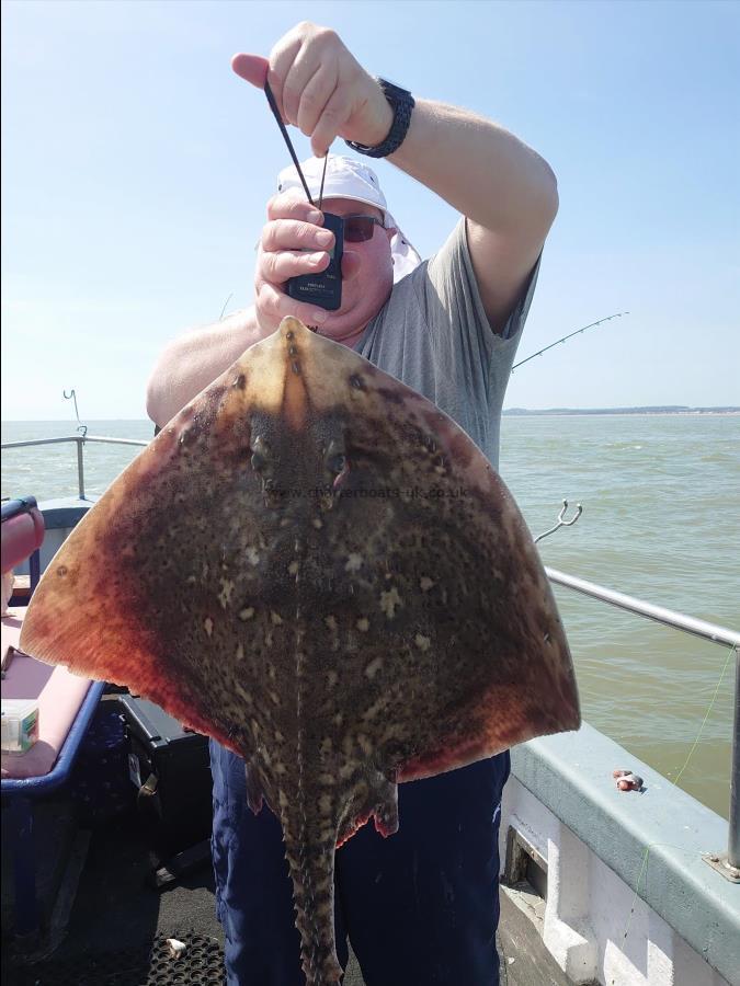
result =
M207 329L175 339L159 357L149 378L149 417L163 428L178 411L263 335L251 307Z

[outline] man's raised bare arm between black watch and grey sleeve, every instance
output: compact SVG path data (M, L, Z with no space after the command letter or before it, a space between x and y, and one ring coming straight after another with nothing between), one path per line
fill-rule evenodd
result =
M550 167L491 121L425 100L388 160L466 217L481 301L501 332L557 215Z

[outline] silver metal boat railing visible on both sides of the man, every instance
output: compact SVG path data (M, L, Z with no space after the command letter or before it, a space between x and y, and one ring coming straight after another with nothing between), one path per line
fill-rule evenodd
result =
M25 442L9 442L2 444L2 449L8 448L25 448L34 445L54 445L60 443L75 442L77 444L77 471L78 471L78 494L80 500L84 500L84 446L88 442L98 442L107 445L134 445L146 447L149 442L136 438L112 438L101 435L68 435L60 438L32 438ZM597 599L601 603L607 603L619 609L627 610L646 619L654 620L681 630L684 633L691 633L711 643L730 646L735 651L735 716L732 727L732 756L730 767L730 813L727 838L727 853L707 853L707 862L732 881L740 881L740 632L719 627L705 620L695 619L676 610L665 609L662 606L656 606L652 603L646 603L635 596L628 596L624 593L615 592L593 582L587 582L566 572L559 572L556 569L545 567L550 582L561 585L565 588L581 593Z

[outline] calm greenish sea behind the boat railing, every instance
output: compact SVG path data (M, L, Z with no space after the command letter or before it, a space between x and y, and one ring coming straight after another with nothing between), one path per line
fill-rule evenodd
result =
M73 424L10 422L2 442L75 434ZM90 435L149 439L141 421L90 422ZM89 444L86 490L102 493L138 449ZM501 473L534 535L561 501L583 504L570 528L540 542L545 564L690 616L740 628L740 417L504 417ZM5 450L2 496L77 491L71 445ZM699 734L728 649L556 592L585 718L668 778ZM730 662L702 740L681 778L727 817L732 727ZM629 767L629 763L614 767Z

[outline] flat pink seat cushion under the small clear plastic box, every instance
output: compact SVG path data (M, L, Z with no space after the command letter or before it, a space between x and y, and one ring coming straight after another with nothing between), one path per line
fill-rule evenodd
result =
M23 606L14 606L2 619L2 654L18 646ZM38 741L21 756L2 755L3 778L44 777L56 764L67 734L90 688L89 678L52 667L34 657L15 654L2 681L3 699L38 699Z

